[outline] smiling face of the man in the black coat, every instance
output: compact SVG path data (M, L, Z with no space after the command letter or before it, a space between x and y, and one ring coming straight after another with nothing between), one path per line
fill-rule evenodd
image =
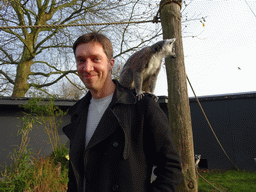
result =
M76 48L77 71L87 89L100 91L111 80L114 60L108 61L100 43L80 44Z

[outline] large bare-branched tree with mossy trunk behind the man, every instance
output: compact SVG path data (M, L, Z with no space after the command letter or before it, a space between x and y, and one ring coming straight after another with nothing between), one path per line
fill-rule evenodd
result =
M147 6L145 6L147 5ZM138 13L138 7L144 12ZM147 9L146 9L147 8ZM48 87L64 77L76 74L72 42L79 35L90 31L108 32L121 39L117 56L143 45L159 35L134 32L134 26L124 27L84 26L61 28L53 25L84 24L147 19L152 8L139 0L9 0L0 2L2 26L31 26L29 28L5 28L0 31L0 91L5 95L24 97L28 90L49 92ZM127 19L128 18L128 19ZM45 25L47 25L45 27ZM44 26L44 27L33 27ZM113 30L114 29L114 30ZM130 44L126 41L130 35ZM115 35L111 35L115 34ZM135 39L136 42L135 43ZM140 39L138 41L138 39ZM132 46L131 46L132 44Z

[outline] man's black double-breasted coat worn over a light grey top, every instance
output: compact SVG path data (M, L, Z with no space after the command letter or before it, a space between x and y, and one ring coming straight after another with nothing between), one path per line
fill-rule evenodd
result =
M151 97L137 102L114 82L112 102L86 148L90 92L70 110L71 123L63 128L70 140L68 191L175 191L181 167L166 115ZM157 178L151 183L153 165Z

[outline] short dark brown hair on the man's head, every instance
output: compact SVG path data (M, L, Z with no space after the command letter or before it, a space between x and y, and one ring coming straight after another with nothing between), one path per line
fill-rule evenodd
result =
M104 53L107 55L108 60L113 58L113 46L111 41L105 35L95 32L84 34L75 41L75 43L73 44L74 54L76 55L76 48L78 45L90 42L100 43L103 47Z

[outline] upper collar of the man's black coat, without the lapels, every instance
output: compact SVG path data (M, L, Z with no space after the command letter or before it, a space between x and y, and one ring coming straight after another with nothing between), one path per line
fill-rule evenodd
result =
M132 93L132 91L124 88L117 80L113 80L116 85L116 90L113 95L112 102L110 103L110 107L113 107L115 104L122 103L122 104L135 104L136 97ZM90 104L90 100L92 95L90 91L81 99L79 100L71 109L69 110L69 114L79 115L82 111L88 108Z

